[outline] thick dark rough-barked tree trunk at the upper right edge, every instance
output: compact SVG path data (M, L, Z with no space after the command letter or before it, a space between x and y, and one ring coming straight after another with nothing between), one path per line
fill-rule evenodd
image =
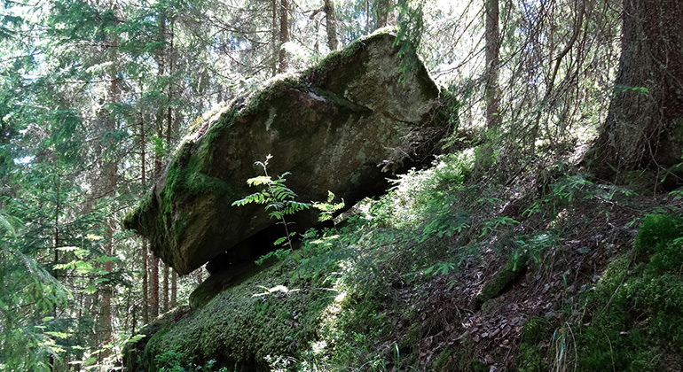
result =
M624 0L614 96L594 146L593 167L663 169L683 150L683 2Z

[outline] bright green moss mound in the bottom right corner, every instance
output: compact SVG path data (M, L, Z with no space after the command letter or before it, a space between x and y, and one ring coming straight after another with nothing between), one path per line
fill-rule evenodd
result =
M650 260L622 256L586 296L589 326L577 337L581 370L656 371L665 368L666 353L683 352L679 217L649 215L638 236L638 252L651 253Z

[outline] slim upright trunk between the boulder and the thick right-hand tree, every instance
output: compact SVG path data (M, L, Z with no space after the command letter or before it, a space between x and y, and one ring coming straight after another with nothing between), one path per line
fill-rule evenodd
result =
M500 126L500 87L499 87L499 0L485 0L486 4L486 86L484 100L486 101L486 127Z

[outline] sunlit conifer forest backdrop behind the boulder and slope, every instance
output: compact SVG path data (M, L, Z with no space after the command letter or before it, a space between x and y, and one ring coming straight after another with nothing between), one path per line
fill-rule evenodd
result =
M626 1L627 14L645 3ZM463 137L444 148L487 143L477 182L506 183L569 151L583 156L616 94L653 97L646 78L615 82L622 27L642 25L626 26L624 4L4 0L0 369L109 370L142 325L187 300L206 274L178 277L120 221L216 105L393 26L459 99ZM632 153L605 157L644 166Z

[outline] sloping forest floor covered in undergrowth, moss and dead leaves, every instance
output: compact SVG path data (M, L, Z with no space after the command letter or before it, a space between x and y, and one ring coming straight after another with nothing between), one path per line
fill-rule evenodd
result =
M444 155L401 175L385 196L353 206L346 220L337 216L263 256L262 273L154 336L146 360L183 345L174 353L217 360L185 362L184 370L469 371L499 363L524 372L655 371L680 363L683 219L648 215L630 250L628 231L639 213L658 209L629 206L636 205L632 190L594 183L566 163L484 186L473 179L475 154ZM283 178L276 182L286 188ZM280 193L267 189L270 182L258 185L270 190L266 207L281 211ZM281 196L295 202L292 190ZM342 207L334 195L313 205L324 219ZM608 236L614 224L627 245L623 236ZM604 275L601 267L586 271L596 258L613 260ZM514 288L526 294L505 299ZM550 301L543 312L533 305L537 298ZM496 339L506 347L477 331L476 322L522 300L532 304L526 313L497 326L517 329ZM197 329L210 334L182 340L203 332ZM161 368L160 360L152 364Z

